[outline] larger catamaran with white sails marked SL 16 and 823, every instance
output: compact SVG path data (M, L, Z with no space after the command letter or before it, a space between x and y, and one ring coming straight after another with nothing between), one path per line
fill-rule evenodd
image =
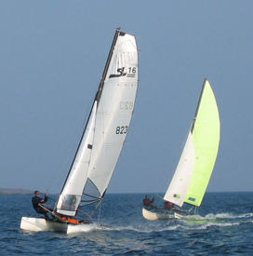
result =
M92 217L106 193L126 140L137 88L136 38L117 29L86 128L55 208L50 211L55 221L22 217L22 230L69 234L94 228L94 222L84 220L80 213L87 214L84 209L92 208L87 214Z

